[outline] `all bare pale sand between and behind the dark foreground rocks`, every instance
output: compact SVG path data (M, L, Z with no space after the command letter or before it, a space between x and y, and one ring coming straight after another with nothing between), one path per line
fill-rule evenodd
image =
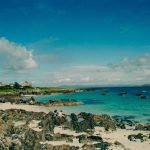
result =
M23 109L26 111L48 113L50 110L53 111L55 108L45 107L45 106L25 105L25 104L0 103L0 110L7 110L7 109ZM15 124L16 124L16 126L20 126L20 125L23 125L24 122L16 122ZM37 124L38 124L38 121L33 120L29 124L29 127L34 129L35 131L41 131L41 129L38 128ZM95 135L100 135L104 139L104 141L107 141L110 143L114 143L115 141L118 141L119 143L121 143L123 145L123 146L113 145L110 148L112 150L124 150L125 148L130 149L130 150L150 150L150 140L147 140L144 142L140 142L140 141L134 142L134 141L128 140L128 135L138 134L138 133L142 133L142 134L146 135L146 134L150 134L150 131L144 132L144 131L117 129L117 131L114 131L114 132L105 132L104 129L100 128L100 127L96 127L95 130L96 130ZM54 129L54 132L60 133L60 134L73 135L75 137L78 135L81 135L81 134L86 134L86 133L76 133L71 130L64 130L62 127L56 127ZM47 144L52 144L52 145L66 144L66 145L68 145L68 142L54 141L54 142L48 142ZM74 142L69 143L69 145L70 146L79 146L79 147L82 146L82 144L80 144L76 138L74 139Z

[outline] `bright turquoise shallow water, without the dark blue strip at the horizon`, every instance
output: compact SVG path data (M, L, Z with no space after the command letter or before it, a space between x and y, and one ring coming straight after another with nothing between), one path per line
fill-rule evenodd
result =
M126 90L127 91L127 90ZM144 91L145 92L145 91ZM137 97L134 92L120 96L118 91L109 91L101 95L103 91L77 92L70 94L52 94L36 96L37 101L48 101L58 99L76 99L83 102L80 106L58 107L66 112L90 112L94 114L109 114L111 116L127 116L140 122L150 122L150 96L147 99Z

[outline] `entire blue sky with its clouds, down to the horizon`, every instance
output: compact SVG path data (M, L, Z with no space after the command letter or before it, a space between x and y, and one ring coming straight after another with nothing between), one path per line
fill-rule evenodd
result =
M0 81L150 83L149 0L0 0Z

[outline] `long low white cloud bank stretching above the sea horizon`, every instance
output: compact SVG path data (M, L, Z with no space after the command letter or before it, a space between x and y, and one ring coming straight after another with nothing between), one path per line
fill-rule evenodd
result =
M150 83L150 54L137 58L125 58L117 64L82 65L62 68L50 72L50 83L87 84L87 85L121 85Z

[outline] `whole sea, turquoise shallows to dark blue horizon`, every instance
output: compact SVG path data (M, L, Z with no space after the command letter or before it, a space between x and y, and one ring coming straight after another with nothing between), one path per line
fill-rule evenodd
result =
M141 94L145 98L138 96ZM75 99L83 104L79 106L59 106L68 113L87 112L120 116L140 123L150 123L150 87L107 87L92 91L73 93L54 93L36 96L37 101Z

